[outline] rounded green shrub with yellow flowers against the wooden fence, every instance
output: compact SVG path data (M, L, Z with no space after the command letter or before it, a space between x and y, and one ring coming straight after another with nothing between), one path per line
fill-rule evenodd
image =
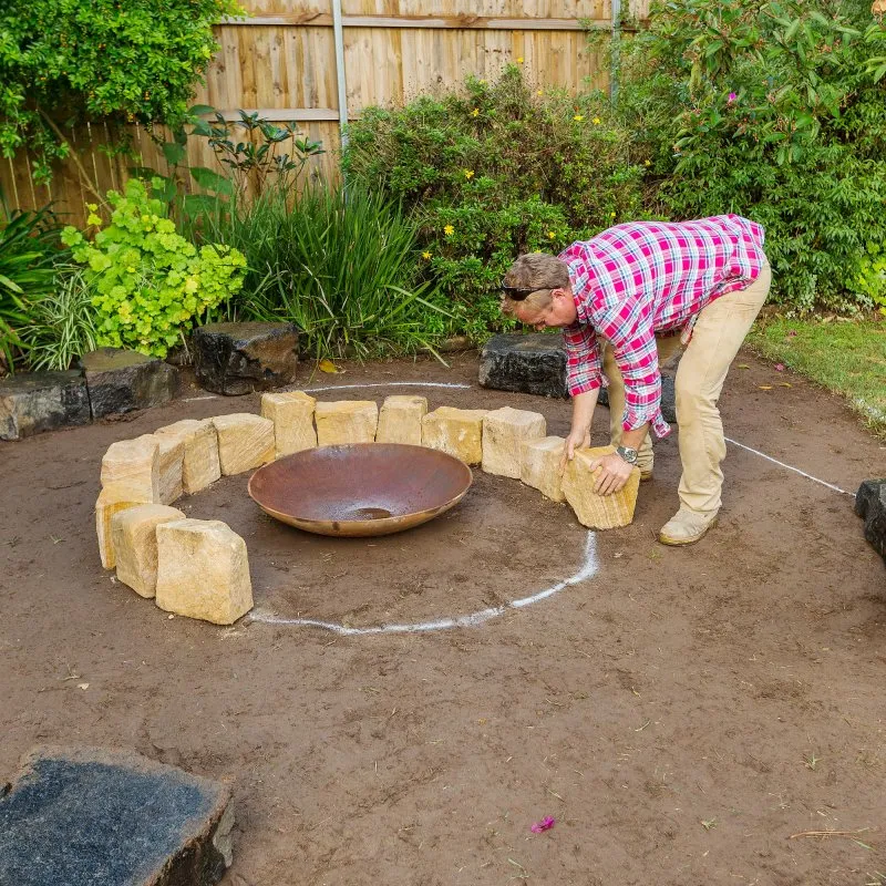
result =
M451 332L505 328L498 284L521 253L558 251L645 217L643 161L599 94L570 97L508 66L487 84L372 107L348 130L346 176L414 213L429 279L450 300Z

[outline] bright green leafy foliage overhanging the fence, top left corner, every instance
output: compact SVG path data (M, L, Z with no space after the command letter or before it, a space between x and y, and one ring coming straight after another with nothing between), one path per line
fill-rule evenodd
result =
M42 183L53 159L79 164L64 123L176 125L218 50L213 25L238 14L235 0L6 0L0 151L30 148Z

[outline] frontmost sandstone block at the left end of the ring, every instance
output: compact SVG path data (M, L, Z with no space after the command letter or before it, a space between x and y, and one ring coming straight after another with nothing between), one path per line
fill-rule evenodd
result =
M246 542L217 519L157 526L156 604L167 612L233 625L253 608Z

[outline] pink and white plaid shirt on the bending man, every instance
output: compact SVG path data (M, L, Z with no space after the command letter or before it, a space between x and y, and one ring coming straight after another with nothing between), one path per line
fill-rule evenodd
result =
M677 332L707 305L744 289L763 266L763 228L738 215L697 222L616 225L559 258L569 266L578 319L563 331L569 393L602 383L601 346L612 343L625 379L626 431L661 418L661 374L656 332Z

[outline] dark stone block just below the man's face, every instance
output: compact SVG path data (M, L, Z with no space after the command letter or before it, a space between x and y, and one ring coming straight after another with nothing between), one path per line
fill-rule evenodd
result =
M560 336L494 336L480 354L480 383L496 391L568 396L566 348Z

